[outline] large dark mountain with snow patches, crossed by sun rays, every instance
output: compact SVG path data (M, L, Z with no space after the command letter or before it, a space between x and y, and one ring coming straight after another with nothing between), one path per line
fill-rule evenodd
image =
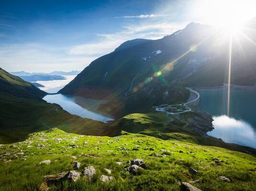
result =
M256 40L255 31L243 30ZM233 40L232 84L256 84L256 46L248 38L241 34L239 41ZM124 42L89 64L60 93L123 99L136 94L134 88L140 90L151 83L172 87L223 85L228 82L229 40L225 32L190 23L162 39Z

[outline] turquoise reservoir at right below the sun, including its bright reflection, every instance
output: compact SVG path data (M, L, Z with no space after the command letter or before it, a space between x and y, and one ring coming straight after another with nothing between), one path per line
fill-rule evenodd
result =
M256 90L233 88L230 117L227 115L227 90L198 91L198 107L213 116L214 130L207 134L228 143L256 148Z

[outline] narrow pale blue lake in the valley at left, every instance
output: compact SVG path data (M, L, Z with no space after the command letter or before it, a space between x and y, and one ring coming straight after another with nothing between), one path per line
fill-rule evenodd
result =
M60 105L64 110L72 115L90 118L104 123L113 120L111 116L97 111L100 103L104 102L103 100L86 99L83 97L66 96L62 94L47 95L43 99L48 103L56 103Z

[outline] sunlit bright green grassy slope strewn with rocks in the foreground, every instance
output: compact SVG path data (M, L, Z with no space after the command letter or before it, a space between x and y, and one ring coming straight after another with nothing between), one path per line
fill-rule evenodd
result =
M46 138L46 142L41 141ZM62 138L56 143L56 138ZM41 139L41 140L40 140ZM119 140L118 140L119 139ZM254 191L256 185L256 158L244 153L221 149L217 147L200 146L186 140L162 140L138 134L124 133L118 139L109 137L79 136L67 134L61 130L35 133L23 142L0 147L0 154L11 153L2 159L11 159L17 152L24 152L26 159L18 157L11 162L0 161L1 191L33 191L42 183L43 176L72 170L71 156L78 157L83 152L90 156L79 157L82 169L92 165L97 171L91 182L80 178L77 183L65 182L51 190L62 191L98 191L98 190L129 190L129 191L178 191L179 181L191 182L192 185L203 191ZM71 141L78 145L77 149L68 148ZM88 144L83 143L87 141ZM138 142L142 141L142 143ZM127 144L127 145L125 145ZM30 145L32 147L28 148ZM46 145L45 149L37 149L38 145ZM139 150L132 149L138 145ZM121 148L126 147L125 151ZM146 148L154 148L151 151ZM167 157L157 158L152 154L162 154L160 149L167 149ZM179 153L183 150L184 153ZM189 152L189 153L187 153ZM126 164L118 166L115 162L127 161L136 158L144 159L148 170L141 170L137 175L130 176L123 168ZM212 159L222 160L220 165ZM50 165L37 165L40 161L50 159ZM197 175L189 173L189 167L199 171ZM99 177L105 174L104 168L112 170L115 181L100 183ZM231 182L219 180L219 176L230 178Z

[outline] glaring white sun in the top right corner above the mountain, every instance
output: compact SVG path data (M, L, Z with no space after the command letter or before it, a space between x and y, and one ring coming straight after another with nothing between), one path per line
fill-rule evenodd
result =
M256 17L256 0L196 0L194 14L202 23L236 32Z

